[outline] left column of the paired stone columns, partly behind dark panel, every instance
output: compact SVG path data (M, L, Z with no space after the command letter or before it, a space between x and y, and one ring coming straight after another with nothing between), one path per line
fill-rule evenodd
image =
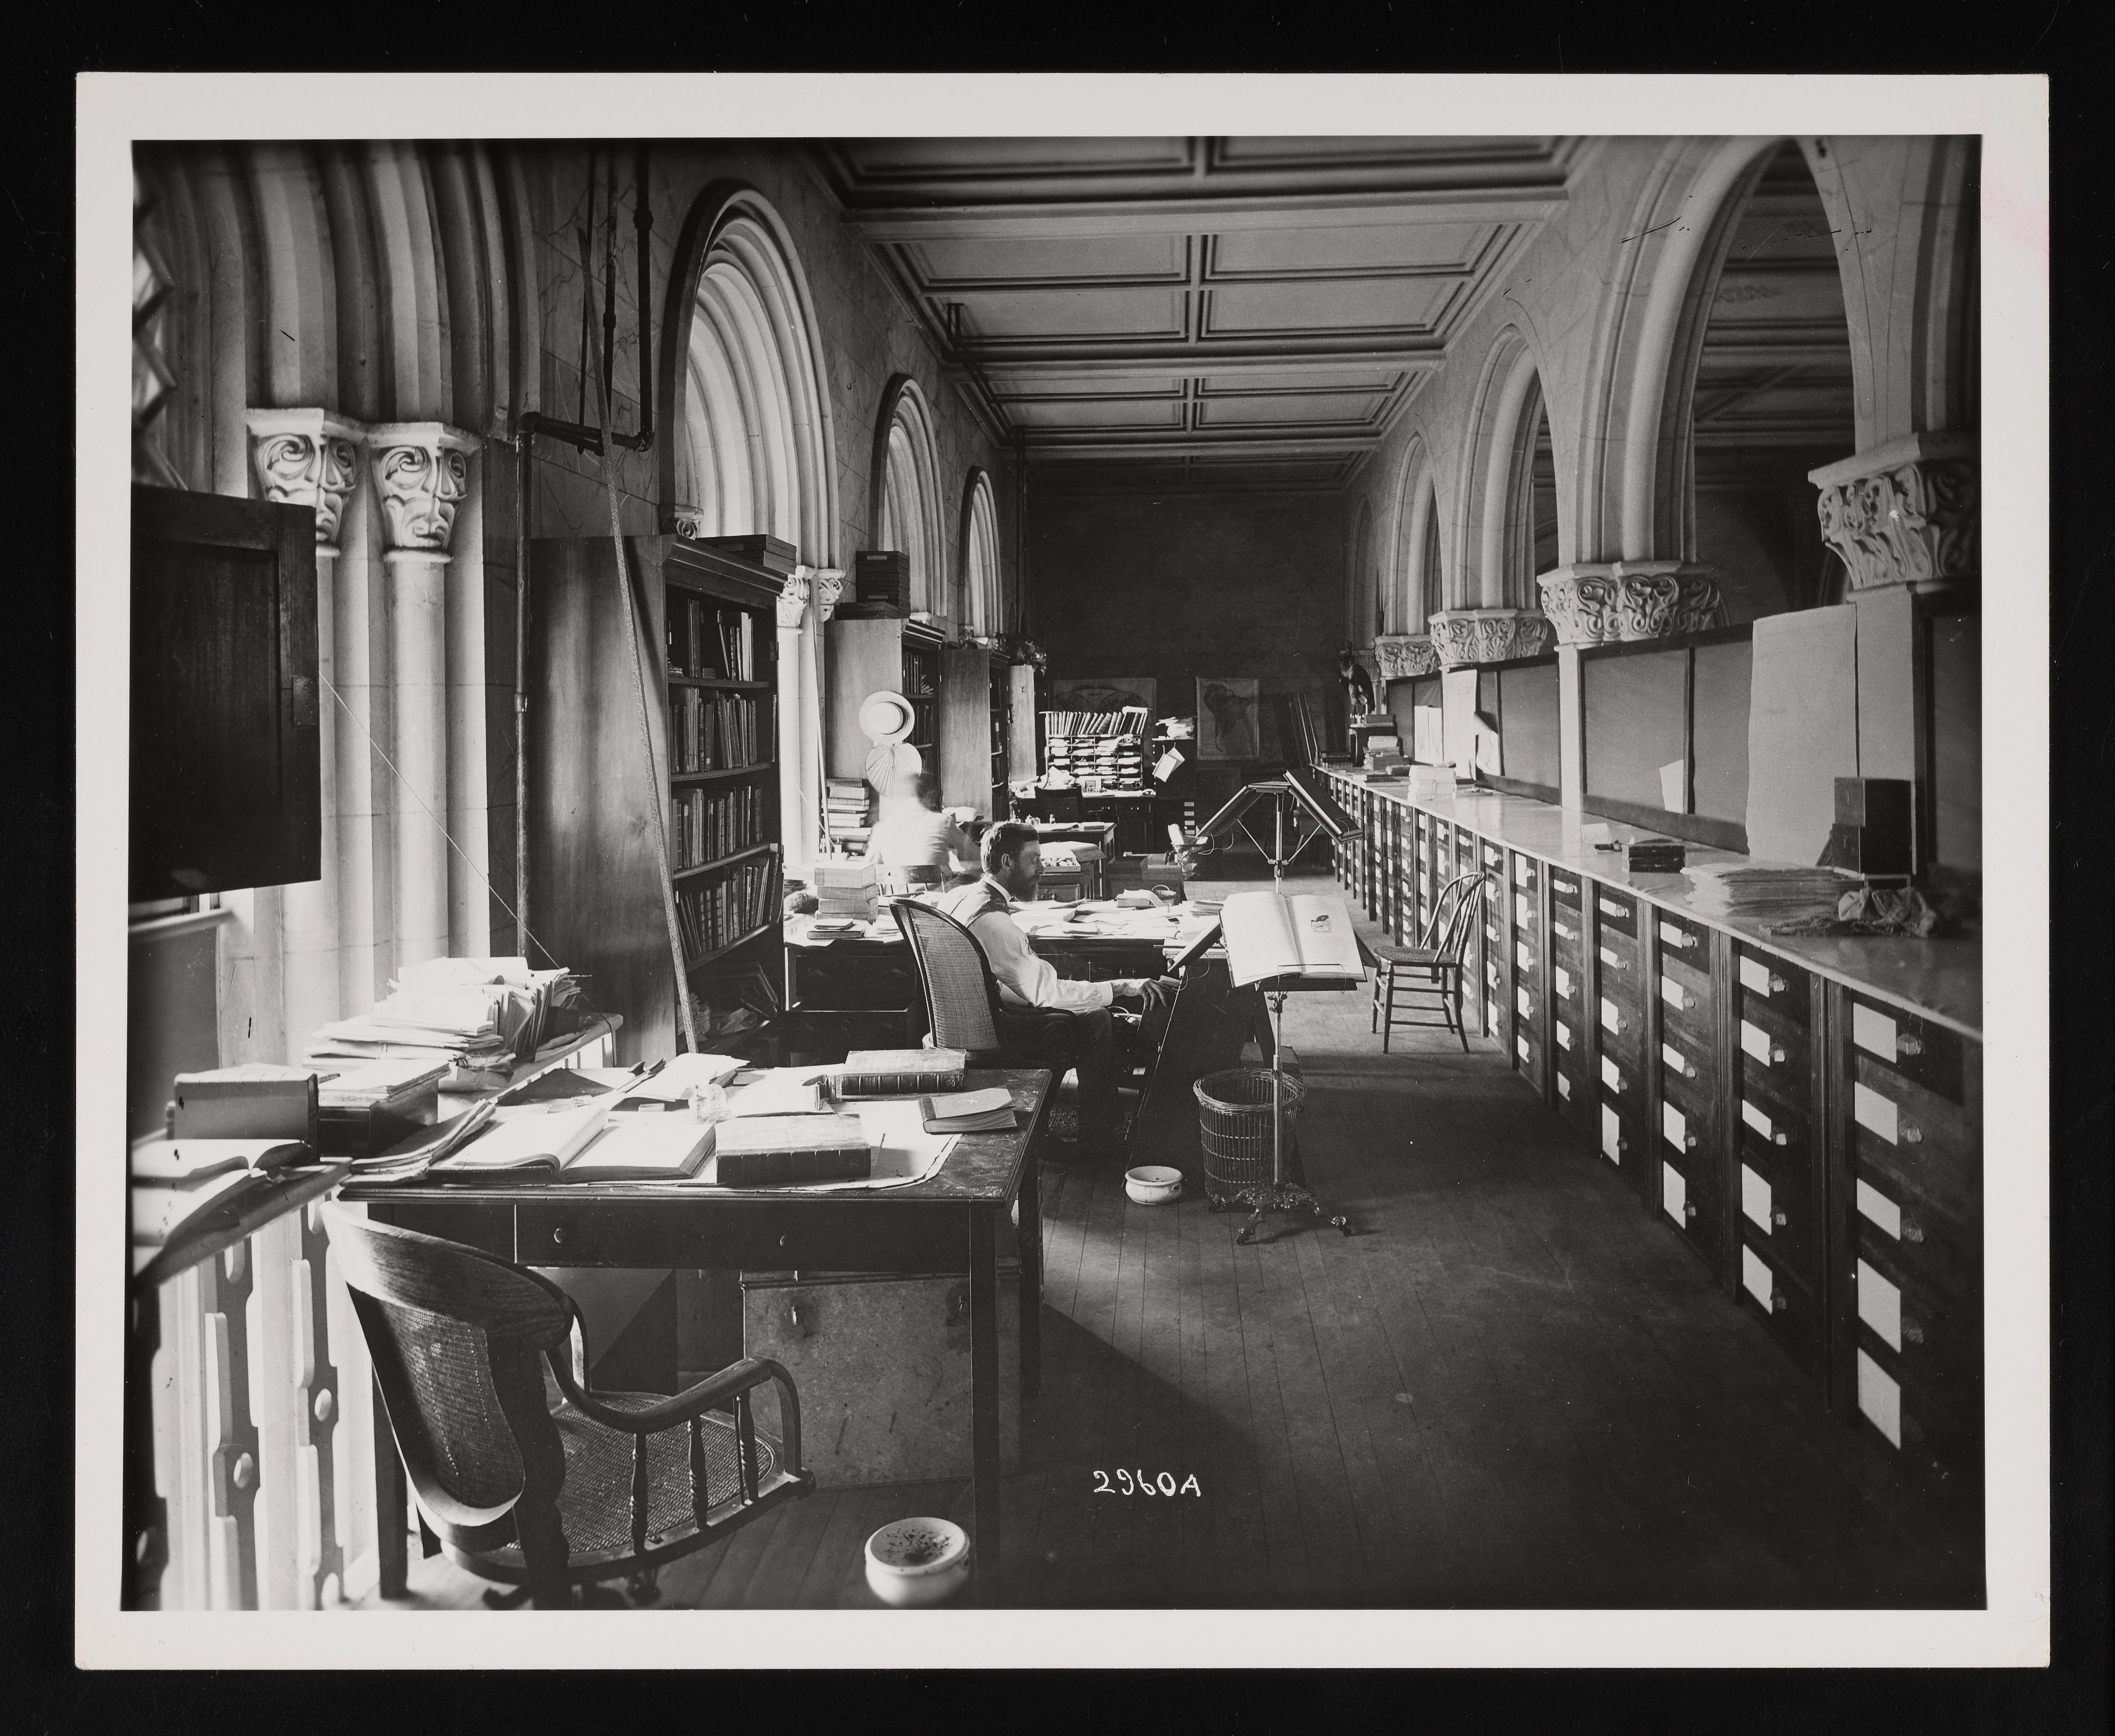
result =
M317 1026L343 1015L338 973L338 537L360 486L366 429L324 408L250 410L250 465L258 493L315 512L317 806L321 873L288 886L281 901L283 1059L296 1059ZM275 1059L279 1059L275 1055Z

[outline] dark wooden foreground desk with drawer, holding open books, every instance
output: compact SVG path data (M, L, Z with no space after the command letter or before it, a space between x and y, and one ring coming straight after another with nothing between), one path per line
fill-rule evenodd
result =
M525 1267L649 1271L871 1271L969 1275L971 1465L977 1554L998 1565L998 1218L1019 1205L1022 1396L1043 1379L1043 1212L1036 1161L1051 1074L973 1072L1003 1085L1028 1125L964 1133L937 1176L873 1193L797 1188L362 1186L343 1190L376 1222L482 1248ZM381 1448L381 1442L376 1442ZM404 1470L376 1451L376 1527L404 1537ZM391 1533L393 1527L393 1533ZM404 1560L383 1560L383 1596L402 1596ZM393 1575L393 1584L391 1584Z

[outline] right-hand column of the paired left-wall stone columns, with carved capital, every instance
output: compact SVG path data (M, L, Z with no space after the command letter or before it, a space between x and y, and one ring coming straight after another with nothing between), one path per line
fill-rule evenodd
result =
M448 952L448 543L476 450L442 423L368 431L389 571L398 966Z

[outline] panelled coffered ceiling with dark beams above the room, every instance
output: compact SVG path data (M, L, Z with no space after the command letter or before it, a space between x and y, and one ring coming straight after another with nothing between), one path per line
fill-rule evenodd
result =
M1578 140L835 140L846 224L1047 488L1337 488Z

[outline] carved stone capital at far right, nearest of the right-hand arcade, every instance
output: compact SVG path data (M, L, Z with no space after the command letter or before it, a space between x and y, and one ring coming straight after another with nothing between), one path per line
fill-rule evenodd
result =
M1939 590L1982 573L1982 444L1910 433L1806 472L1821 491L1821 541L1851 590Z

